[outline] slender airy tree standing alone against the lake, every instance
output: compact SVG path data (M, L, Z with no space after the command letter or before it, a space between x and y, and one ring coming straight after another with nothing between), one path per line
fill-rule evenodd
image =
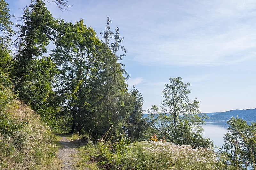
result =
M203 139L200 132L206 115L200 114L199 101L190 101L188 86L182 78L170 78L170 85L165 84L163 103L161 109L153 105L148 109L151 114L152 126L167 140L176 144L191 144L195 146L208 146L212 144L209 139Z

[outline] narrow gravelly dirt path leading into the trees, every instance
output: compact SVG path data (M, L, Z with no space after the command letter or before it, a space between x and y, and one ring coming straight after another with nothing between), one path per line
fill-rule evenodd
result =
M59 134L62 138L60 139L60 144L62 147L59 149L59 159L62 160L61 170L75 170L76 158L74 155L78 152L76 148L81 145L69 140L62 134Z

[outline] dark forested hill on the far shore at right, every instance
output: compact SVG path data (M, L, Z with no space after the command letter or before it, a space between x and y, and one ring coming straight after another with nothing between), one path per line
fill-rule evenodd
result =
M212 113L212 115L208 115L209 119L207 121L219 121L219 120L229 120L232 116L238 118L242 118L247 121L255 121L256 120L256 108L254 109L246 109L246 110L229 110L226 112L221 112L218 114Z

